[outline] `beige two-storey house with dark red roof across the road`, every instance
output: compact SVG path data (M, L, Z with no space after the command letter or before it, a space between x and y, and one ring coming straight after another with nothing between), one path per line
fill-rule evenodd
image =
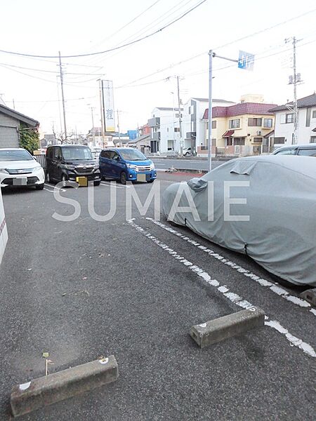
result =
M256 100L256 102L253 102ZM273 131L274 104L263 102L261 95L244 95L241 102L229 107L212 108L212 154L228 156L259 155L270 152L268 133ZM199 156L207 154L209 109L204 112L206 139L199 145Z

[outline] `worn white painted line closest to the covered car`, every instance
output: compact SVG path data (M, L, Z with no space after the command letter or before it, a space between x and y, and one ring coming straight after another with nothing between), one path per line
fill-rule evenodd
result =
M294 305L298 305L299 307L306 307L310 310L310 312L316 316L315 309L311 308L309 302L306 300L303 300L303 298L298 298L295 295L290 295L287 290L282 288L282 286L279 286L277 283L273 283L271 281L267 281L266 279L261 278L261 276L258 276L254 274L253 272L250 272L248 269L244 269L244 267L237 265L235 262L232 262L231 260L227 260L223 258L223 256L219 255L218 253L215 253L213 250L210 250L209 248L206 248L202 246L202 244L198 243L197 241L194 241L190 239L188 236L185 236L181 234L180 232L176 231L176 229L173 229L171 227L168 227L168 225L164 225L162 222L155 221L152 218L146 218L150 222L154 223L158 227L161 227L165 229L166 231L170 232L173 235L176 235L178 238L183 239L184 241L187 241L187 243L190 243L192 246L195 246L199 248L200 250L204 251L204 253L207 253L212 258L215 258L219 262L223 263L223 265L227 265L231 267L232 269L235 269L237 272L243 274L247 278L252 279L253 281L256 281L260 286L269 288L273 293L279 295L280 297L284 298L284 300L287 300L289 302L292 302Z

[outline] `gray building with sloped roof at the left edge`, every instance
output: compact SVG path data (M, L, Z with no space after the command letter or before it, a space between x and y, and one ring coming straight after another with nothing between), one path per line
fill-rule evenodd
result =
M0 104L0 147L19 147L20 123L36 128L39 122Z

